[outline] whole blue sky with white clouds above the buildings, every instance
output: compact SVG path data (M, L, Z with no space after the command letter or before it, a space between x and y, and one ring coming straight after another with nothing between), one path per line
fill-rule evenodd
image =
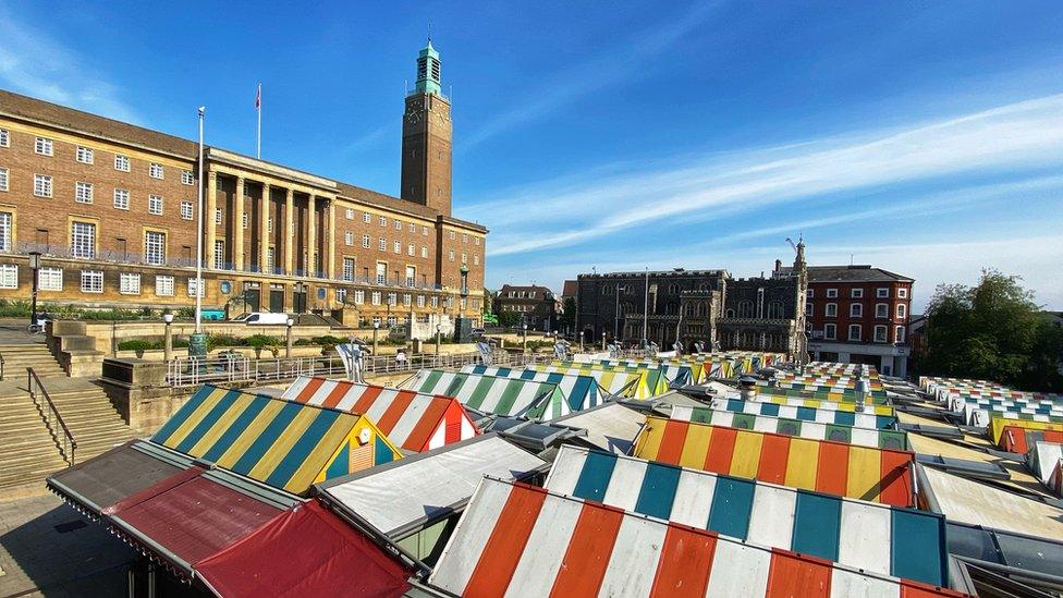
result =
M429 21L488 283L812 264L1063 309L1063 4L0 4L0 86L394 194Z

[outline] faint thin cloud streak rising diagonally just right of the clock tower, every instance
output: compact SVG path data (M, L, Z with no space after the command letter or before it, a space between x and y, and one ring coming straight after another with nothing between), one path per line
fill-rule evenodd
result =
M668 50L692 33L716 10L717 2L698 2L686 14L663 26L640 32L622 46L576 64L523 94L526 101L487 119L462 139L460 150L474 147L503 131L541 119L598 89L637 76L649 59Z

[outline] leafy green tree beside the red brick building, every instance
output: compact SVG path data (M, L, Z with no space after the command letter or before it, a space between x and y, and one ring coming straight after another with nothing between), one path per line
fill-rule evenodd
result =
M928 375L991 380L1023 390L1063 388L1063 331L1051 326L1022 279L982 270L975 286L941 284L927 306Z

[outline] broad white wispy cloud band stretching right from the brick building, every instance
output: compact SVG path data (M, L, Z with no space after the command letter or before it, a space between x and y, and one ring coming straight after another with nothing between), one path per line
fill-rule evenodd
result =
M1063 94L903 130L691 158L663 168L516 190L492 215L490 255L575 245L668 218L686 223L766 206L957 175L1063 164Z

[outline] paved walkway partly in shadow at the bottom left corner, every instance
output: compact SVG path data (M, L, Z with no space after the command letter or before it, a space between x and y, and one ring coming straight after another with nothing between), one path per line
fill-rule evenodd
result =
M0 502L0 598L124 596L132 560L53 495Z

